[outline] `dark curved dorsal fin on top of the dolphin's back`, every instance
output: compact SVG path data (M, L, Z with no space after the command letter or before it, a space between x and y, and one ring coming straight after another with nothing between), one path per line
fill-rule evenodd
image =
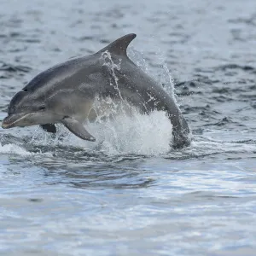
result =
M126 53L127 47L134 38L136 38L136 34L125 35L124 37L113 41L113 43L108 44L108 46L101 49L99 51L99 53L102 53L102 52L108 50L110 53L115 54L115 55L127 56L127 53Z

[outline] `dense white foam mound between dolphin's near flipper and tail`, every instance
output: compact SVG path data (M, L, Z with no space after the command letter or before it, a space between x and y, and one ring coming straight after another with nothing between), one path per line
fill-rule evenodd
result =
M132 115L90 123L102 150L109 154L165 154L170 150L172 125L165 112Z

